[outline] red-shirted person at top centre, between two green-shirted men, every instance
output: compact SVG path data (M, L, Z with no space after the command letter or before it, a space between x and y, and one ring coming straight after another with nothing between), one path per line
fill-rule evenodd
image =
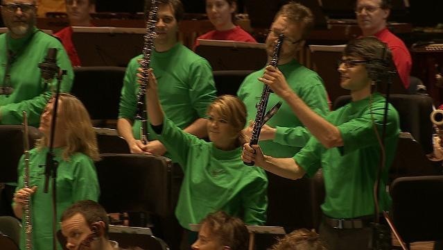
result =
M206 13L216 29L200 35L193 50L199 45L198 39L257 42L250 33L234 24L236 8L236 0L206 0Z

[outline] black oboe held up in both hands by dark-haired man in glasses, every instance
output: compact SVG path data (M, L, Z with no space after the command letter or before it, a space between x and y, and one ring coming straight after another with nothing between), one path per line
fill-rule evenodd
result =
M277 43L274 45L274 50L272 51L272 58L269 65L277 67L279 63L279 54L281 49L281 44L283 44L284 35L280 34ZM265 117L266 107L268 106L269 94L272 90L268 85L263 86L263 91L261 92L261 98L257 104L257 115L255 115L254 125L252 126L251 138L249 140L250 145L255 145L259 143L260 131L263 126L263 118ZM245 163L245 162L243 162ZM245 163L245 165L253 166L254 162Z

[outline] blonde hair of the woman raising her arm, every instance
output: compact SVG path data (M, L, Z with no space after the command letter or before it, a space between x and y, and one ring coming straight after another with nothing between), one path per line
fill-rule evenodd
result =
M242 131L245 128L247 115L245 103L230 94L223 94L211 103L207 113L211 111L226 117L229 124L238 134L236 147L243 145L245 143L245 135L243 135Z

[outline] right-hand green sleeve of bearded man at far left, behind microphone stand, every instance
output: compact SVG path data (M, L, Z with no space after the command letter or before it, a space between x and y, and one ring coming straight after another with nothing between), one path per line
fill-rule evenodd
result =
M66 51L58 45L57 63L60 69L66 70L66 75L62 76L62 82L60 85L60 92L69 92L73 83L73 70L71 67L71 61L69 60ZM52 45L55 47L55 45ZM54 79L49 83L49 90L52 86L57 85L57 79ZM55 87L54 87L55 88ZM51 97L51 91L42 92L42 94L28 99L20 101L18 103L9 103L0 107L0 122L1 124L21 124L23 122L23 111L28 113L28 124L39 124L40 115L49 98Z

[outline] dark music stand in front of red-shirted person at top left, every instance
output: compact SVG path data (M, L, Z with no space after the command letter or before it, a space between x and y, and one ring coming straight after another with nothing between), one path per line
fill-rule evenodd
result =
M72 29L72 42L82 66L126 67L130 59L141 53L146 33L146 28L73 26Z

